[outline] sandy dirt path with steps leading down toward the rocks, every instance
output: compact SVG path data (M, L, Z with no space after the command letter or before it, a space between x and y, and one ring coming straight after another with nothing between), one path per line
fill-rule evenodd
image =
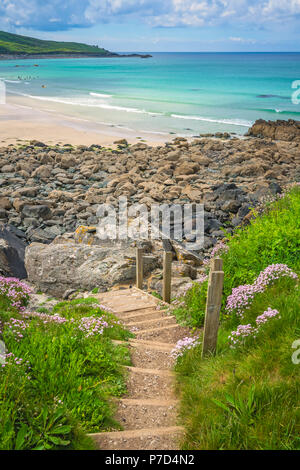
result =
M138 289L98 294L124 324L134 330L129 341L133 367L128 369L127 396L118 403L116 419L123 431L91 434L102 450L176 450L183 432L177 426L173 361L170 352L188 330L172 315L158 310L159 300Z

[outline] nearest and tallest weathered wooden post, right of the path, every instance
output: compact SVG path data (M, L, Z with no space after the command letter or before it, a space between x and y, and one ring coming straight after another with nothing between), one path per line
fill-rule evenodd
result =
M223 260L216 258L212 261L208 279L202 357L216 352L223 284Z

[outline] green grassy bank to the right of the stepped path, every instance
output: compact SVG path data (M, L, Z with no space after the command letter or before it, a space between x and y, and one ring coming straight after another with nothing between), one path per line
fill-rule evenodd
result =
M270 264L287 264L300 275L299 220L297 187L237 230L223 255L224 297L233 287L253 283ZM277 309L280 318L271 319L256 338L230 348L231 331L239 323L253 324L268 307ZM226 315L223 305L216 356L202 360L200 345L176 365L186 428L183 449L300 449L300 364L292 362L297 339L300 292L295 280L282 278L257 294L242 321Z

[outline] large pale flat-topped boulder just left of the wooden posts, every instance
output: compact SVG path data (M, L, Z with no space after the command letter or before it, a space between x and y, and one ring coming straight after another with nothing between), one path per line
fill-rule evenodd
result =
M109 288L135 279L135 250L110 246L32 243L25 265L30 282L51 295L68 289ZM157 267L153 255L144 256L145 274Z

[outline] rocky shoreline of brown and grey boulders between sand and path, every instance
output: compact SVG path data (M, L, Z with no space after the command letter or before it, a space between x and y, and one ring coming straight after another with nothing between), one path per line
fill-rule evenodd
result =
M2 275L22 271L31 244L26 269L43 291L62 296L72 289L105 290L130 282L133 244L97 240L98 204L117 207L119 196L147 207L204 203L203 250L193 258L174 244L177 289L200 275L201 259L224 237L222 228L230 232L247 223L252 207L300 181L297 121L257 121L244 139L175 138L158 147L123 139L116 145L49 147L32 141L0 149ZM147 242L145 250L148 287L159 290L161 246Z

